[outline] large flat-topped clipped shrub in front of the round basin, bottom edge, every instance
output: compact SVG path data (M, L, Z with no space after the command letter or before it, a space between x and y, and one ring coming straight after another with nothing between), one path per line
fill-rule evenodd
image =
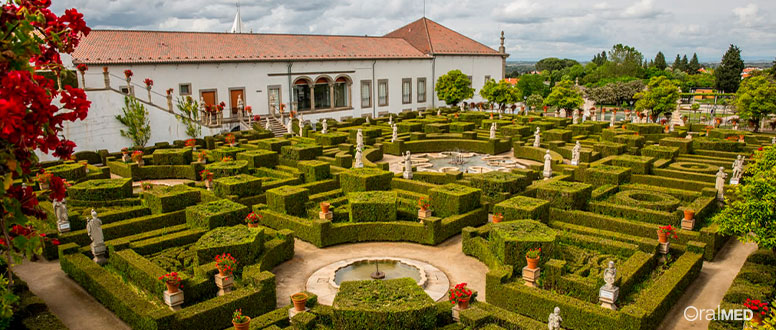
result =
M334 328L434 329L434 302L410 278L343 282L332 304Z

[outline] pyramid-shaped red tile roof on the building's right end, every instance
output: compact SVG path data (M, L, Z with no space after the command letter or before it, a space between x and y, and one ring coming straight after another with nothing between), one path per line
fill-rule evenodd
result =
M428 18L421 18L385 35L402 38L426 54L502 55L498 51L448 29Z

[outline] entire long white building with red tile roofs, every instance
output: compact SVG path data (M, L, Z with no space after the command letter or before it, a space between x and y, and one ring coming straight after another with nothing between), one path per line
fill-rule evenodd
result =
M153 144L187 138L169 112L179 96L226 104L223 125L203 127L203 134L240 125L238 118L246 116L238 98L254 115L277 117L282 104L306 120L441 106L434 84L450 70L469 75L476 90L504 77L503 41L502 33L496 51L427 18L382 37L93 30L72 58L73 65L89 66L85 87L92 107L85 121L65 127L65 136L80 150L130 144L115 119L128 89L126 69L134 73L130 88L141 101L149 98L143 80L154 81L146 105Z

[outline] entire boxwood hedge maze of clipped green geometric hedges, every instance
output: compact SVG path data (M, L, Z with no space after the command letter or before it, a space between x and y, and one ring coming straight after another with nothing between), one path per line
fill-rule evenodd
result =
M750 166L772 139L541 113L498 118L442 108L329 119L326 134L321 122L299 132L294 119L285 136L256 127L130 148L142 151L142 164L117 150L81 150L74 161L41 164L72 184L69 230L52 225L48 236L61 244L43 255L137 329L225 329L237 309L250 329L546 329L548 319L565 329L656 329L730 240L711 219L736 191L732 164L741 155ZM411 158L449 152L506 155L516 166L439 172ZM61 222L61 206L46 190L39 198ZM102 264L93 260L96 227ZM288 297L276 303L272 270L294 257L295 240L325 253L359 242L436 246L458 235L461 258L488 271L485 291L456 304L433 301L406 278L345 282L331 305L306 292L301 311ZM770 301L774 274L773 252L756 252L720 303ZM551 316L556 307L562 321Z

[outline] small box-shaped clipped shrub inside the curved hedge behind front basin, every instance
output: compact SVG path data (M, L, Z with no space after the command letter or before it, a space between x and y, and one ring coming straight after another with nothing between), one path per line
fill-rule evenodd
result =
M396 192L364 191L348 193L350 222L395 221Z

